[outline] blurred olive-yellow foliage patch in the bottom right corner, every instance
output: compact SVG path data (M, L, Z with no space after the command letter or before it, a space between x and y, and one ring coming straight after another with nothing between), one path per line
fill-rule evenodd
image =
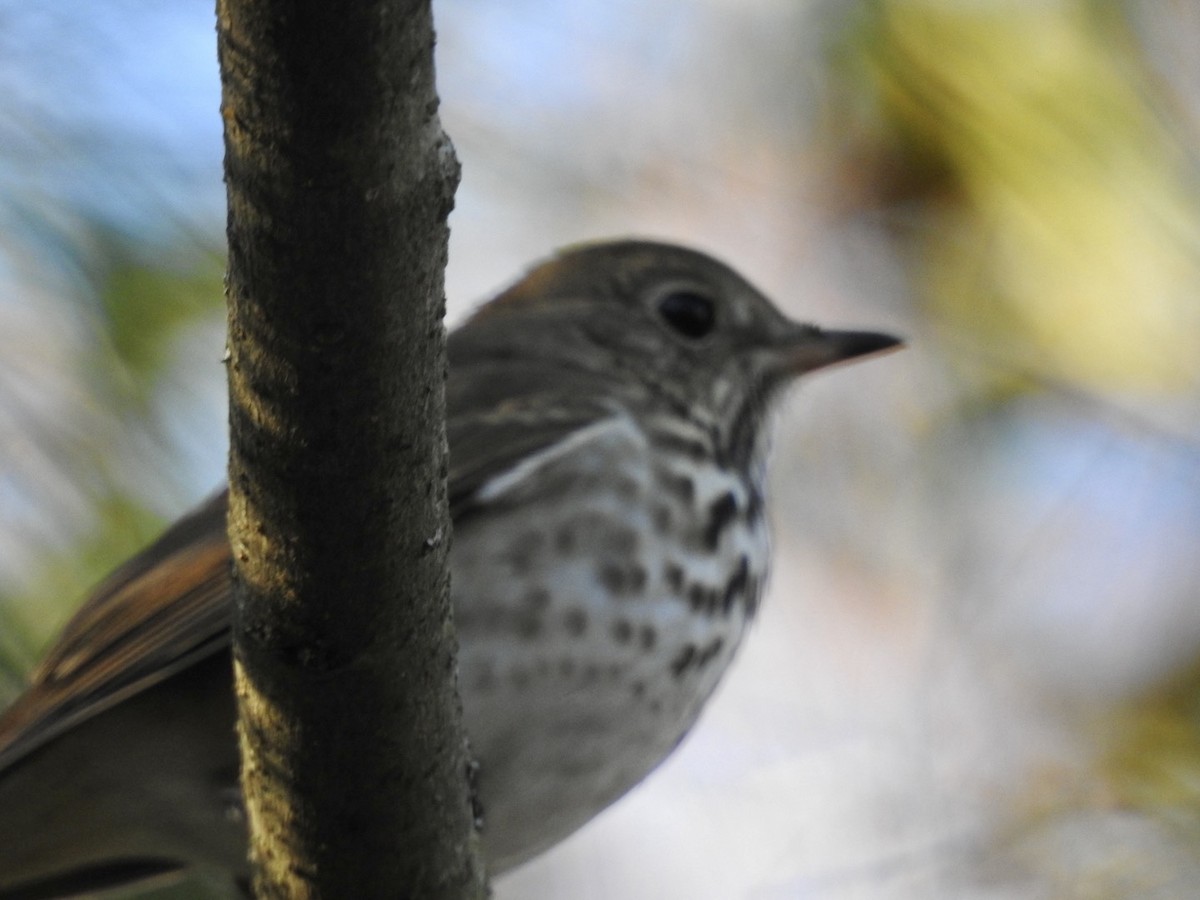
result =
M1081 730L1024 786L986 863L1030 896L1183 900L1200 883L1200 660ZM1094 758L1092 758L1094 752ZM1076 760L1079 762L1079 760ZM1021 894L1022 896L1026 894Z

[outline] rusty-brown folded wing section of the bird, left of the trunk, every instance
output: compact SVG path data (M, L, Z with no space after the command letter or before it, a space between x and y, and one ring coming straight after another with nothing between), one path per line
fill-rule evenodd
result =
M229 644L226 494L114 571L0 715L0 769Z

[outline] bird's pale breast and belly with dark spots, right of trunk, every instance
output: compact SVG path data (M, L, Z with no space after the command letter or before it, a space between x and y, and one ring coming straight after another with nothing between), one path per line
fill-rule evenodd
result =
M580 497L456 535L460 690L493 871L636 785L732 659L766 576L766 528L739 514L754 502L732 476L708 485L714 496L694 481L688 497Z

